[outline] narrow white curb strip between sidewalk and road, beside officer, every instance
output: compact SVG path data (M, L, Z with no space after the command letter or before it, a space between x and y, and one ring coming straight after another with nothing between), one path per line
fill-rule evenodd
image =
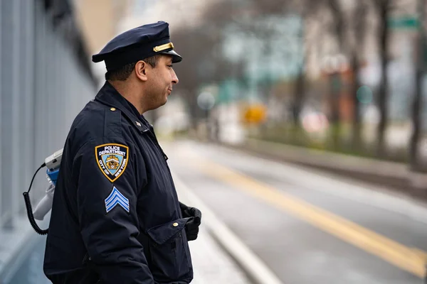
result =
M180 200L182 202L188 202L201 210L204 219L202 224L206 226L211 236L223 247L226 253L228 253L231 258L236 261L238 266L243 269L244 273L253 280L253 283L283 284L273 271L271 271L270 268L246 246L246 244L243 244L243 242L238 239L238 236L228 229L226 224L221 222L214 212L212 212L199 197L196 197L180 178L174 174L172 175Z

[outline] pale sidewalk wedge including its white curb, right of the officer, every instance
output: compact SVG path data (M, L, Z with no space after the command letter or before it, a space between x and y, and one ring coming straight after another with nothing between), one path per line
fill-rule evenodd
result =
M172 175L179 200L202 212L199 236L189 242L194 266L192 283L283 284L177 175Z

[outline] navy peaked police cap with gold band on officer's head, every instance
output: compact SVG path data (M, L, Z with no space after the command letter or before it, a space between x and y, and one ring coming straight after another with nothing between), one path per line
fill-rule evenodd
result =
M105 61L105 67L110 71L157 54L172 55L174 63L182 60L170 41L169 23L164 21L132 28L117 35L100 53L92 55L92 61Z

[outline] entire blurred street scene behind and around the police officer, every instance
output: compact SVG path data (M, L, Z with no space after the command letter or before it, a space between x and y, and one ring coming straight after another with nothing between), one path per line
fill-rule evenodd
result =
M184 60L144 116L207 212L193 283L423 283L426 16L425 0L0 0L0 283L48 283L22 192L102 86L91 55L156 21Z

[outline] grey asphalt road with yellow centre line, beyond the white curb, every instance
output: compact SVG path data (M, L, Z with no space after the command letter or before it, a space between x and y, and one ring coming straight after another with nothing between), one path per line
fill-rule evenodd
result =
M423 283L420 204L220 146L162 146L174 174L283 283Z

